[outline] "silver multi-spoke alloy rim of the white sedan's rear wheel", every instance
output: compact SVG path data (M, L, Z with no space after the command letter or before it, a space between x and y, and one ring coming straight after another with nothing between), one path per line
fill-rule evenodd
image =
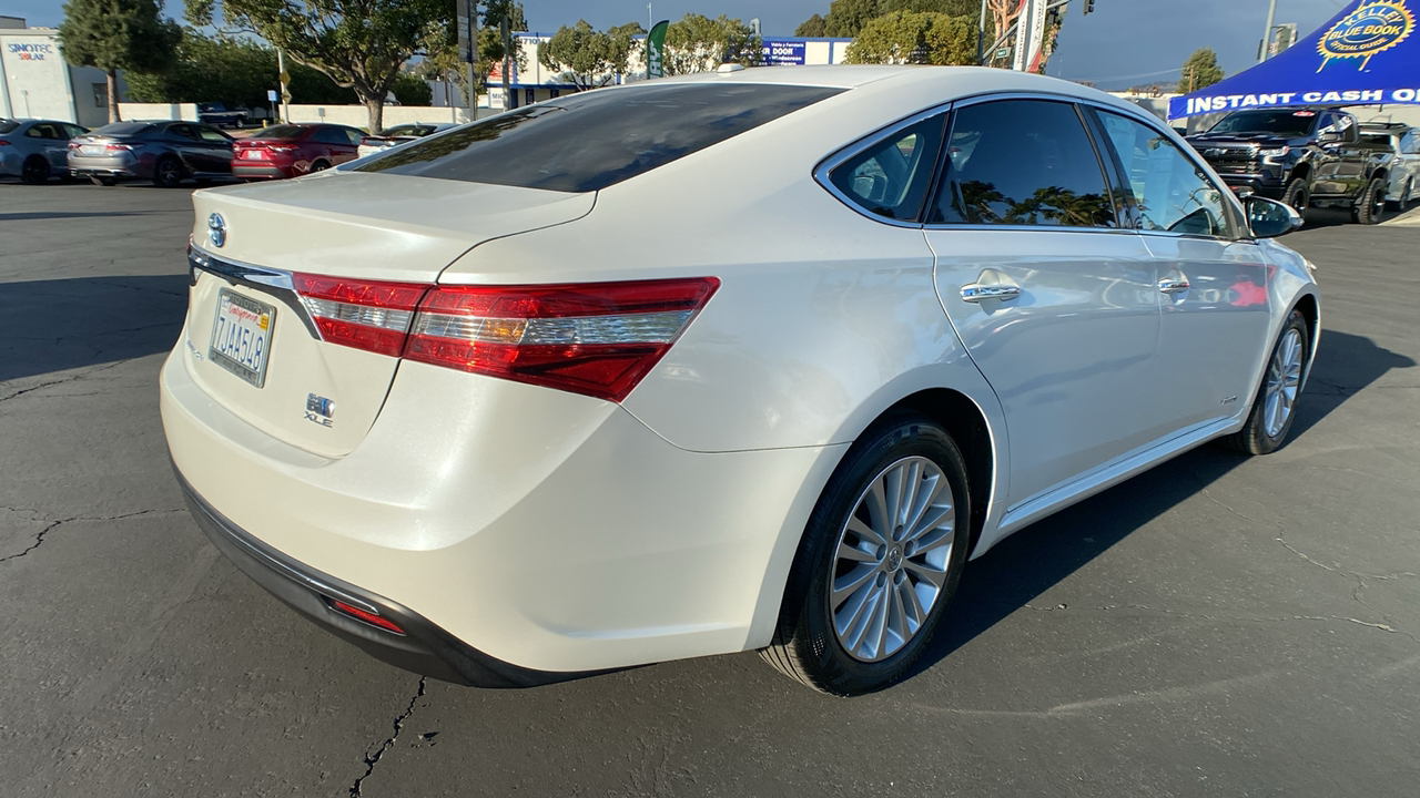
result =
M858 498L834 557L834 633L859 662L910 642L937 603L956 541L951 484L936 463L905 457Z

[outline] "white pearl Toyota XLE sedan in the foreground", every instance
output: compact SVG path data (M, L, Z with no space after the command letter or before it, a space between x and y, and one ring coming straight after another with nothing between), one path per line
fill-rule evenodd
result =
M1294 212L1001 70L721 68L193 202L195 518L469 684L760 649L880 689L1005 535L1279 447L1319 337Z

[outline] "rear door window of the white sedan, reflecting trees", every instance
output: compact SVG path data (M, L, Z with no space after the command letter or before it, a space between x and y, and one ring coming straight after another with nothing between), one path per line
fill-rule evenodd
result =
M932 223L1115 227L1095 148L1075 106L1010 99L953 115Z

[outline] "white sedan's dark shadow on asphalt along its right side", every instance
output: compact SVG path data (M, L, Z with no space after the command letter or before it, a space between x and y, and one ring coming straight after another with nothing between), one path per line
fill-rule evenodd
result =
M1295 442L1392 369L1414 365L1414 359L1369 338L1323 331L1288 440ZM1223 447L1203 446L1001 541L967 564L946 626L906 677L930 669L1018 609L1055 609L1031 602L1247 460Z

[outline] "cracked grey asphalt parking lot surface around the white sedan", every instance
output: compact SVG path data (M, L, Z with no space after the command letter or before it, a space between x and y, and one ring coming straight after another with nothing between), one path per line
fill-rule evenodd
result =
M1291 443L1014 535L903 684L746 653L484 692L317 630L182 508L156 378L189 192L0 185L0 794L1411 795L1420 230L1316 216Z

